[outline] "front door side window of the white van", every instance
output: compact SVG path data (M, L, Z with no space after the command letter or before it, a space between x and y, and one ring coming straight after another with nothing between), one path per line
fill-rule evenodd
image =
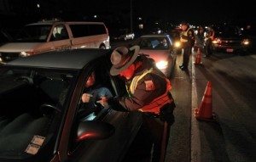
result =
M68 39L67 29L64 25L56 25L52 31L50 41L59 41L63 39Z

